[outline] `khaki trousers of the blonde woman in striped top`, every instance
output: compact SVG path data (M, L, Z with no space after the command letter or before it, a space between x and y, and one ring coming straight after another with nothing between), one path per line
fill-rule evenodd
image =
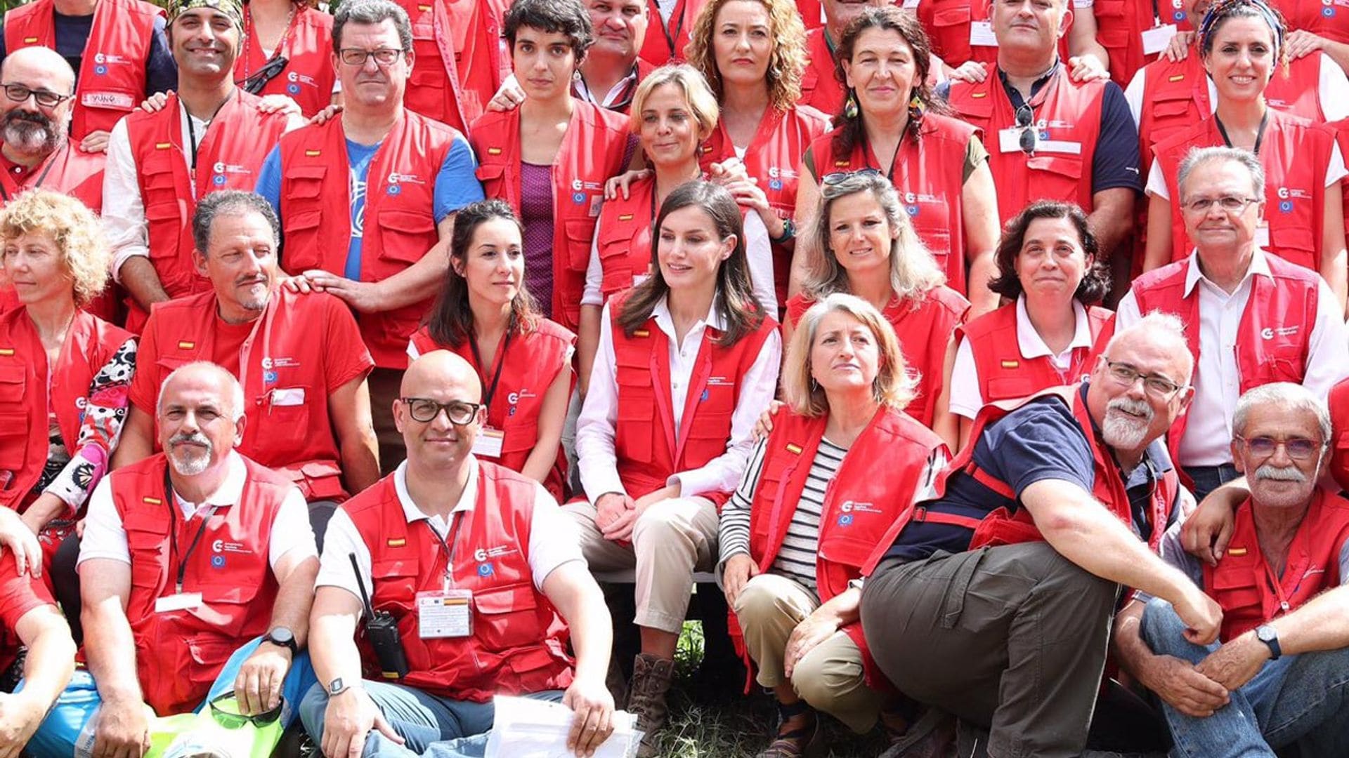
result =
M749 580L735 597L735 618L745 647L758 666L762 687L785 681L782 657L792 630L820 606L819 597L796 581L773 573ZM792 689L817 711L863 734L876 726L885 696L863 681L862 651L842 631L807 653L792 670Z

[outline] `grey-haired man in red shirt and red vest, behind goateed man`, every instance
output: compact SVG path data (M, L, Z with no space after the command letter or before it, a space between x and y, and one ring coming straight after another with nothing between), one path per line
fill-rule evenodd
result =
M113 465L155 452L155 392L169 371L210 360L239 378L248 425L239 452L299 487L322 529L336 504L379 479L366 376L374 367L351 310L277 285L281 229L262 197L208 194L193 216L193 263L212 290L159 303Z

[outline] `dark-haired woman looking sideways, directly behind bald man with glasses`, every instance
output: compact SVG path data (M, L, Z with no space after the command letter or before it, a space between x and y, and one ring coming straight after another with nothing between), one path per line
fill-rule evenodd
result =
M447 349L478 371L487 424L473 455L541 482L557 500L567 482L563 419L576 336L538 316L525 289L519 218L500 200L460 209L445 289L407 355Z

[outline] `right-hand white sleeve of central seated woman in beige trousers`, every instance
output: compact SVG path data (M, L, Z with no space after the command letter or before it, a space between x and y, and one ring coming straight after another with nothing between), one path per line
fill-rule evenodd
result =
M707 339L707 337L704 337ZM692 471L681 471L670 476L668 484L679 484L680 496L703 495L707 492L733 492L745 475L745 463L754 445L750 433L754 422L773 399L777 388L777 371L782 366L782 337L777 329L769 332L759 355L750 370L739 379L741 397L731 413L731 437L726 441L726 452Z

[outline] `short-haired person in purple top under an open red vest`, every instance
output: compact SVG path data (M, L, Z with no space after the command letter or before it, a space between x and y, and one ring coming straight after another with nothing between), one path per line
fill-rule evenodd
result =
M627 166L635 140L625 116L572 96L595 40L579 0L517 0L502 36L526 97L473 123L478 178L523 224L525 285L541 314L576 330L604 182Z

